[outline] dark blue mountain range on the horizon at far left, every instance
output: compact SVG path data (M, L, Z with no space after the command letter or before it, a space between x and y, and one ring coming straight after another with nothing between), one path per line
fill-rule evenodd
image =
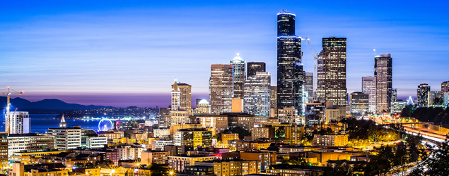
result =
M110 106L95 106L95 105L81 105L77 103L66 103L59 99L43 99L41 101L31 102L26 99L16 97L11 99L11 111L18 108L18 111L25 111L29 109L40 110L83 110L95 108L107 108ZM0 96L0 110L6 106L6 96Z

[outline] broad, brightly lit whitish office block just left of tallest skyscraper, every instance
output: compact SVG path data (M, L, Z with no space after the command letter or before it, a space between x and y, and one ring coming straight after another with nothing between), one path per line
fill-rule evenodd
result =
M271 73L257 72L245 80L245 112L269 116Z

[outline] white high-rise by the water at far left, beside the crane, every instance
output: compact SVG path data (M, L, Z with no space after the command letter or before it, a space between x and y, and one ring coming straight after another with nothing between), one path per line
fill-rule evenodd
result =
M17 111L9 113L9 133L30 133L30 115L28 115L28 112Z

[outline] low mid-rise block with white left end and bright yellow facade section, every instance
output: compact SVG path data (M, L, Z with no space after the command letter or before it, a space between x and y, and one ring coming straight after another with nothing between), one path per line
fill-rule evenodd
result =
M173 134L175 146L202 146L212 145L212 132L204 129L180 129Z

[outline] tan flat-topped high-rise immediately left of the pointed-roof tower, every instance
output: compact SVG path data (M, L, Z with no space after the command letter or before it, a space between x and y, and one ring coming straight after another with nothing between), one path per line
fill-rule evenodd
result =
M209 103L211 113L231 112L234 97L233 65L211 65Z

